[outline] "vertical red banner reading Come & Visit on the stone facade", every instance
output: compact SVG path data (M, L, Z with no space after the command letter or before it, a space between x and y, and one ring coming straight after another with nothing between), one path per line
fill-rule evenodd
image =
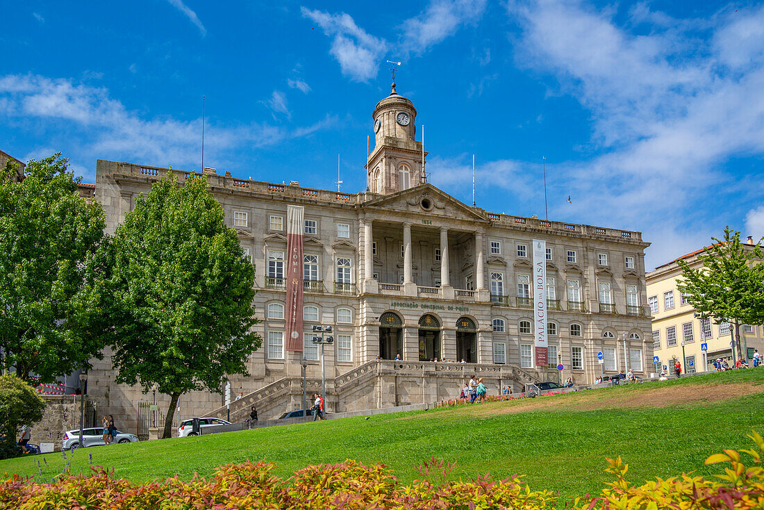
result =
M305 208L286 210L286 350L303 352L303 230Z

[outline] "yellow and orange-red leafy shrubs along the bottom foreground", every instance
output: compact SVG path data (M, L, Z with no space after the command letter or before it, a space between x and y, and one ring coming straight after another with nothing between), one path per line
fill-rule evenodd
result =
M656 478L642 486L626 480L628 466L620 457L608 459L606 471L614 476L601 495L572 499L573 510L659 508L764 508L764 440L753 432L755 450L742 450L753 460L746 466L735 450L707 458L706 464L728 463L717 479L683 474ZM549 491L532 491L519 476L493 480L479 476L470 481L435 482L453 468L434 457L419 469L422 479L402 485L379 464L367 467L353 460L319 464L299 470L289 480L271 474L273 464L264 461L228 464L215 470L211 479L195 476L134 484L115 479L111 472L93 467L90 476L65 475L51 483L11 476L0 482L0 510L224 510L228 508L346 508L424 510L435 508L513 508L545 510L562 502Z

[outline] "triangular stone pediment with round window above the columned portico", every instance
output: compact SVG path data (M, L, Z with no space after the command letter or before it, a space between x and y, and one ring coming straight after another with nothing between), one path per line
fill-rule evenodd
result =
M376 197L361 204L362 209L382 207L388 211L405 213L437 214L455 219L482 220L488 222L488 216L474 207L468 206L448 193L432 186L419 184L408 190L399 191L384 197Z

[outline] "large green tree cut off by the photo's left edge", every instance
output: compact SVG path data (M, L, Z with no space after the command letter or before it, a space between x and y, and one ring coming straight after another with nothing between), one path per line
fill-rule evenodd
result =
M54 154L0 170L0 369L52 382L100 357L88 274L104 213L79 196L79 177Z

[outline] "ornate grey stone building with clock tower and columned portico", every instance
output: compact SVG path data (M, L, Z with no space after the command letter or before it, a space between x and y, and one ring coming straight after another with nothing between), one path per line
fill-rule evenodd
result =
M251 404L265 418L299 408L303 359L309 393L320 387L314 325L333 327L334 344L325 349L329 411L453 398L476 372L494 394L505 385L520 391L526 382L561 376L590 383L603 369L597 362L602 349L614 349L623 358L619 366L633 367L640 377L651 372L643 259L649 243L640 233L488 213L461 203L425 182L426 154L415 139L415 119L413 103L394 86L377 103L375 147L361 193L204 169L256 267L256 330L263 345L251 354L248 377L231 376L231 394L244 393L231 403L231 419L242 418ZM95 197L105 208L109 233L167 171L98 161ZM176 174L183 181L191 173ZM304 207L303 352L286 350L288 206ZM533 356L532 239L546 242L545 366L535 366ZM89 387L124 423L146 398L115 385L110 369L106 356L91 372ZM186 395L179 417L224 414L224 399Z

